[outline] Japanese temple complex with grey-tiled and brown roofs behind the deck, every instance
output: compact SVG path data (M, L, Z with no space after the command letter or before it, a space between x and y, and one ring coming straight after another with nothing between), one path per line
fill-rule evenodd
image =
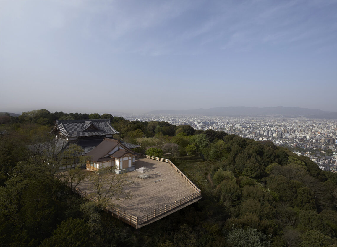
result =
M134 170L135 156L139 153L132 148L139 145L114 139L119 132L111 126L110 119L56 120L54 129L49 133L55 135L62 150L67 149L70 143L79 145L83 149L81 155L89 156L88 170L110 166L116 166L117 173Z

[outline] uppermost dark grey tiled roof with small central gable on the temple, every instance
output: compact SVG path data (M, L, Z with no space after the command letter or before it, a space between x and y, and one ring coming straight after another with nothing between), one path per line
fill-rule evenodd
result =
M85 137L119 134L112 128L109 119L56 120L53 133L60 130L66 137Z

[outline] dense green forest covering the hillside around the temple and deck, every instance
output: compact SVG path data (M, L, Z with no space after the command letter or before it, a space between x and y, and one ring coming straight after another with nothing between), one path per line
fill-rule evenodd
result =
M170 158L203 198L138 230L73 195L28 146L55 119L109 118L138 152ZM270 141L111 114L0 116L1 246L337 246L337 174Z

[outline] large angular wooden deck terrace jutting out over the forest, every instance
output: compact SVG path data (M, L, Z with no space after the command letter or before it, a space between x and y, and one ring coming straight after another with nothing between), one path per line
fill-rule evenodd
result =
M135 169L141 167L152 170L150 177L137 179L138 173L136 171L129 172L130 178L128 180L132 182L125 186L124 190L130 190L132 198L114 201L121 211L125 210L125 213L139 217L138 227L152 223L200 199L198 197L191 200L190 195L193 193L196 195L196 189L179 174L180 171L175 170L170 164L141 158L135 161ZM88 181L79 184L78 187L80 190L87 191L87 193L94 192L90 189ZM200 190L198 195L200 195ZM184 203L185 198L186 203ZM179 201L179 207L176 201ZM170 210L170 205L174 205L174 203L176 206L172 206L172 210ZM165 205L167 205L167 210L164 210ZM157 213L154 211L155 209ZM150 216L147 217L147 215Z

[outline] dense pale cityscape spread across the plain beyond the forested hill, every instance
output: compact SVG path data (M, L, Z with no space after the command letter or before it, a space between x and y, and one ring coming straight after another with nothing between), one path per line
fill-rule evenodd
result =
M305 155L320 169L336 171L336 120L303 117L219 117L185 115L125 115L129 120L166 121L174 125L190 125L195 130L225 131L256 141L270 140L277 146L286 146L298 155Z

